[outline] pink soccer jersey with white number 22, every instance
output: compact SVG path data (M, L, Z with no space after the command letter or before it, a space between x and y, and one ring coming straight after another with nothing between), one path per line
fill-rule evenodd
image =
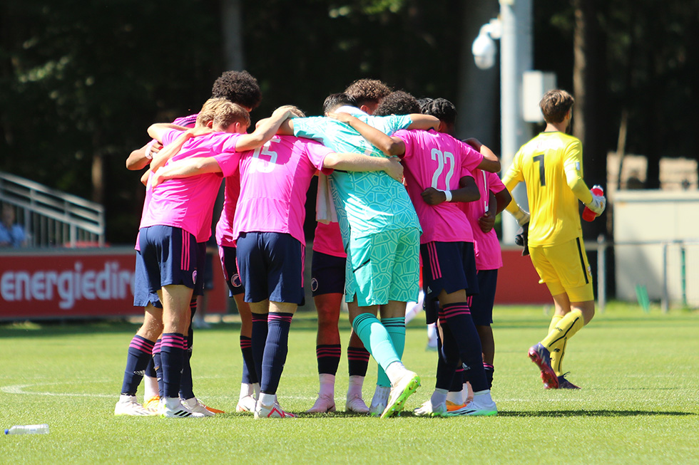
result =
M405 143L405 184L422 226L420 244L472 242L471 225L456 203L428 205L422 192L428 187L459 189L459 179L469 175L483 155L450 135L434 130L400 130L394 133Z

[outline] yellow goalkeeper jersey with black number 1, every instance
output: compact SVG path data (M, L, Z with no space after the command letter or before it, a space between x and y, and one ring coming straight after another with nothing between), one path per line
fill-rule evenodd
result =
M577 137L541 132L519 149L502 181L510 192L519 182L526 184L530 246L582 236L578 197L589 202L591 194L583 181L583 150Z

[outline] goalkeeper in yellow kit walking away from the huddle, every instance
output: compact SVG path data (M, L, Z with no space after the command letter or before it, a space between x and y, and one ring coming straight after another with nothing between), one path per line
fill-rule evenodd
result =
M525 247L529 246L531 263L556 306L549 334L529 349L529 358L539 366L541 380L549 389L578 389L566 380L561 361L568 339L595 315L578 200L597 215L606 205L604 196L593 194L583 181L580 140L566 134L573 102L565 90L549 90L544 95L539 106L546 129L519 149L502 179L510 192L519 182L526 184L530 213L514 200L506 209L524 231L528 228Z

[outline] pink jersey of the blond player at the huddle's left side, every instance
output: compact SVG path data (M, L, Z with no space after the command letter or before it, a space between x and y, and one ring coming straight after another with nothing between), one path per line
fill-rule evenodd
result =
M181 134L178 130L165 133L163 145L168 145ZM190 157L215 157L223 176L230 176L238 169L240 153L235 152L235 142L240 134L213 132L193 137L185 142L182 150L168 161ZM193 234L197 242L208 241L211 236L213 204L221 185L222 174L207 173L192 177L167 179L153 188L150 202L144 205L141 228L146 226L173 226Z

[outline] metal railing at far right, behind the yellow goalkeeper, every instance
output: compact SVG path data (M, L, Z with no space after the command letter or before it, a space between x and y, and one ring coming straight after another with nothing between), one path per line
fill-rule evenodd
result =
M680 298L682 305L688 307L687 299L687 254L688 245L699 245L699 239L677 239L671 241L613 241L603 234L597 237L597 305L601 312L604 311L607 302L606 293L606 258L607 249L617 246L660 246L662 250L662 283L660 291L660 308L663 313L670 310L670 292L668 288L668 249L670 246L678 246L680 249ZM616 263L619 266L619 263Z

